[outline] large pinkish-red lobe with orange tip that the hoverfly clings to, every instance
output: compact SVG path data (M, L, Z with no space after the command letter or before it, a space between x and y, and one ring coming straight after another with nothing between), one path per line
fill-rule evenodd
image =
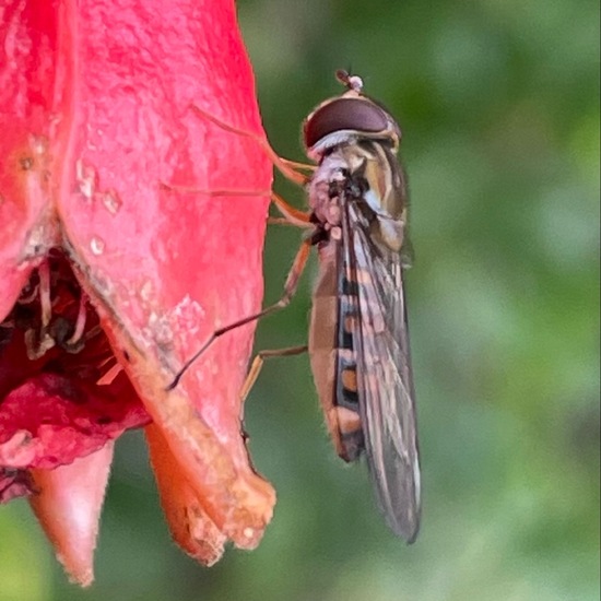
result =
M190 110L195 103L261 131L233 5L161 3L142 16L126 8L117 25L128 35L103 26L97 7L82 10L74 108L85 127L70 132L57 207L82 285L190 486L228 537L254 546L274 497L239 435L249 329L215 345L174 393L164 390L217 325L252 313L261 297L267 196L162 186L270 187L255 142Z

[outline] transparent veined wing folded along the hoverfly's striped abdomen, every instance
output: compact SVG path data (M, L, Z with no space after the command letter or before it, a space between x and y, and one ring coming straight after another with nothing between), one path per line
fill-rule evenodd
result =
M342 217L349 276L357 283L355 330L365 450L388 525L408 542L420 527L420 460L401 255L376 244L354 202Z

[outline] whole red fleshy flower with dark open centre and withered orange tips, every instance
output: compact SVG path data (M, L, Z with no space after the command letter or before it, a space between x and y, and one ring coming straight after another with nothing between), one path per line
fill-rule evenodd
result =
M270 163L190 108L262 134L234 5L126 4L10 0L0 23L0 499L30 495L84 585L126 429L202 563L254 547L274 503L240 433L252 326L166 391L261 300Z

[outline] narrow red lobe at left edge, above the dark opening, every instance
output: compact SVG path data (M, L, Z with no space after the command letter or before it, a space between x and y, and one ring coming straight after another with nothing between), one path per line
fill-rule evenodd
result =
M57 14L51 2L3 2L0 22L0 320L55 232L48 221Z

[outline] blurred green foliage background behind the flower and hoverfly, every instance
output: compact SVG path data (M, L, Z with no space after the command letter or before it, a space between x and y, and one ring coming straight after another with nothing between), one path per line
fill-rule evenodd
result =
M593 0L245 0L273 146L363 75L403 129L423 528L384 525L365 466L332 450L306 356L247 402L279 504L259 549L211 569L170 542L142 438L119 441L91 590L70 586L26 503L0 511L2 600L599 599L599 5ZM278 187L298 205L303 198ZM271 227L266 299L298 232ZM309 269L257 349L302 344Z

